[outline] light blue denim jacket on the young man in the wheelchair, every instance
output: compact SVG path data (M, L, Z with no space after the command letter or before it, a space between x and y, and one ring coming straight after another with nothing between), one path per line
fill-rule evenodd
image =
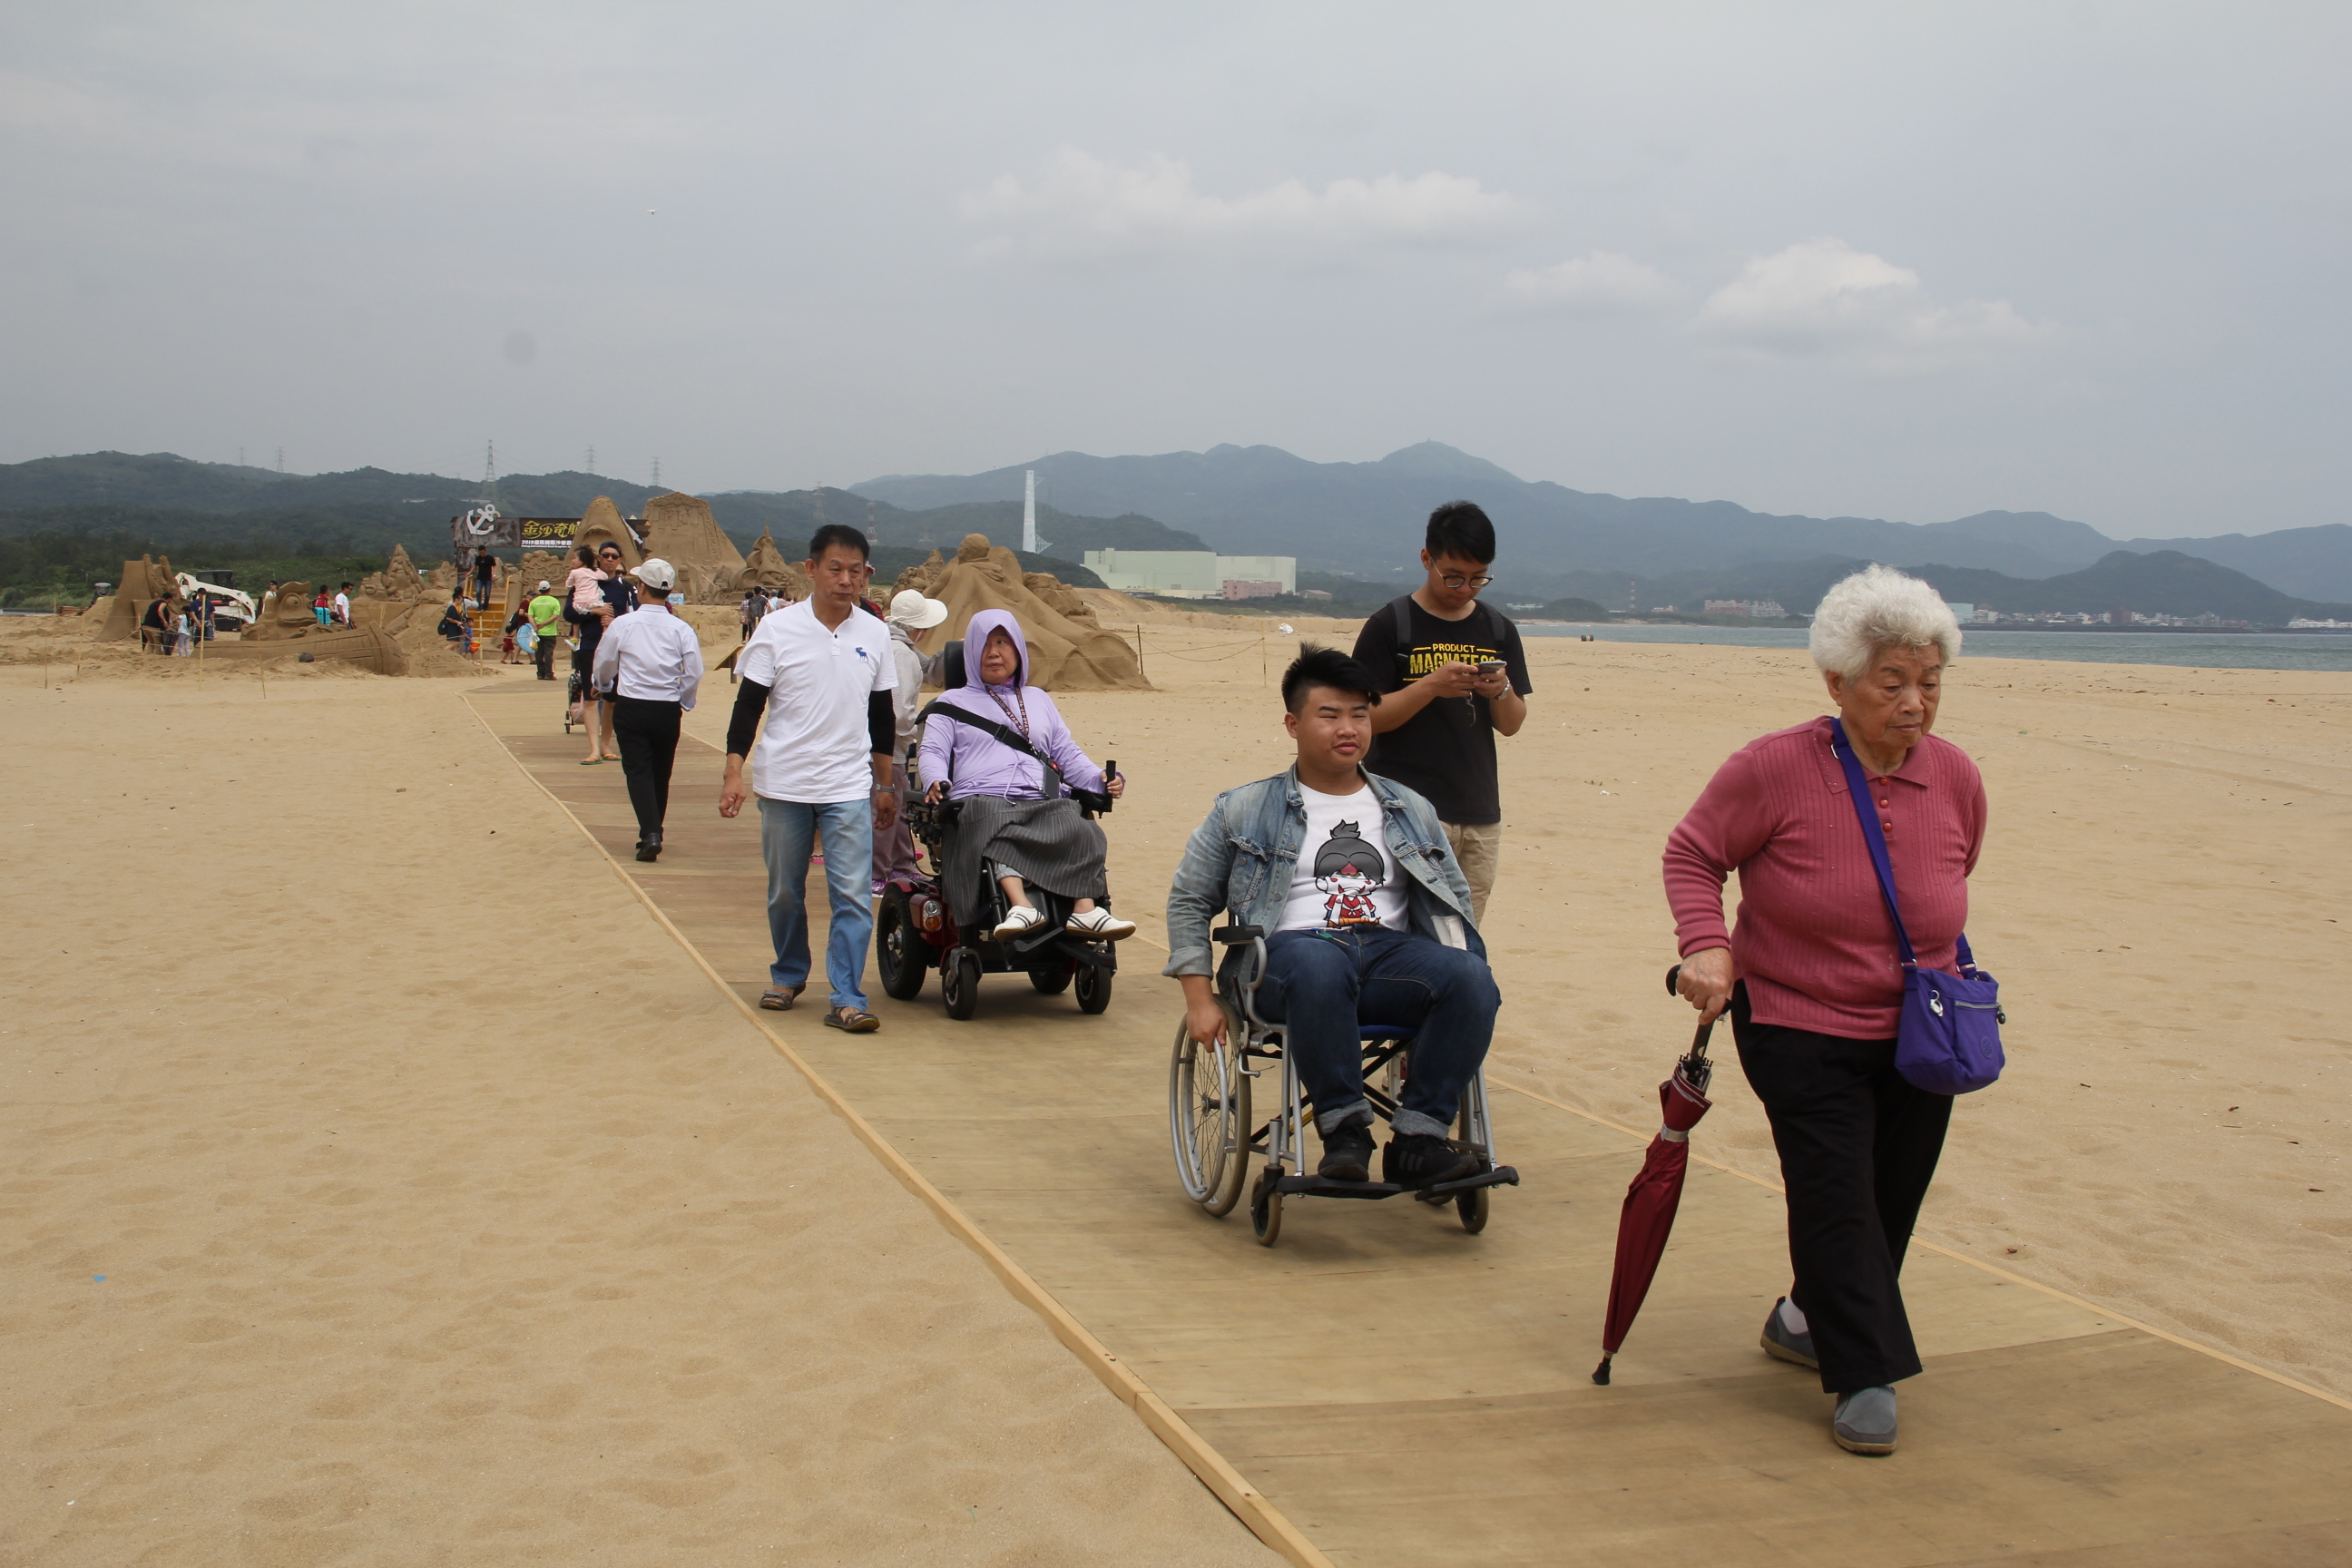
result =
M1446 947L1486 957L1486 943L1470 924L1470 884L1446 851L1437 809L1392 778L1357 769L1381 799L1388 853L1404 867L1404 905L1411 929ZM1308 809L1298 797L1298 769L1225 790L1192 830L1169 884L1169 966L1164 976L1214 973L1209 922L1232 910L1244 926L1272 936L1291 896L1298 846L1308 835ZM1235 954L1249 952L1235 947Z

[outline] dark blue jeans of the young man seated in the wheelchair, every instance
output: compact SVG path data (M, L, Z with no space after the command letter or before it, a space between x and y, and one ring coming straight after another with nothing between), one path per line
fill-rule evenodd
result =
M1444 1138L1463 1084L1486 1060L1503 994L1486 959L1411 931L1277 931L1265 938L1258 1016L1284 1023L1317 1131L1371 1114L1357 1020L1418 1025L1390 1126Z

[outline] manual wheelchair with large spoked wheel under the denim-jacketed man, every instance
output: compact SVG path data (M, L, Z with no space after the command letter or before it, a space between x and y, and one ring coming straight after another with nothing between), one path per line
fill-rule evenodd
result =
M1265 980L1265 931L1258 926L1218 926L1211 938L1225 947L1249 943L1251 954L1240 966L1221 964L1218 1001L1225 1009L1225 1044L1204 1046L1176 1025L1176 1048L1169 1056L1169 1140L1176 1147L1176 1180L1185 1197L1211 1215L1232 1213L1249 1178L1249 1157L1263 1154L1265 1168L1249 1187L1249 1229L1258 1246L1272 1246L1282 1234L1284 1197L1390 1199L1411 1192L1421 1204L1454 1204L1461 1227L1486 1229L1486 1194L1494 1187L1517 1187L1519 1173L1494 1159L1494 1126L1486 1119L1486 1070L1479 1065L1463 1084L1454 1147L1477 1154L1472 1175L1432 1187L1397 1182L1341 1182L1308 1168L1298 1065L1282 1048L1284 1027L1258 1018L1258 985ZM1411 1072L1416 1027L1357 1023L1364 1041L1364 1100L1378 1121L1397 1114L1397 1091ZM1251 1081L1279 1067L1279 1105L1251 1131Z

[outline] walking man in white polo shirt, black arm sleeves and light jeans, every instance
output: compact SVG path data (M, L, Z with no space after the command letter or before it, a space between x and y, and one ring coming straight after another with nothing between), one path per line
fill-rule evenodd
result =
M873 940L873 832L898 820L891 792L896 668L889 628L858 604L866 536L828 522L809 541L816 592L764 616L736 656L736 705L727 724L727 783L720 816L748 797L743 759L760 795L760 853L767 858L767 931L776 945L760 1006L783 1011L809 985L809 846L826 846L833 931L826 1023L851 1034L882 1027L866 1011L866 945ZM762 715L767 726L762 731ZM760 736L753 750L753 736Z

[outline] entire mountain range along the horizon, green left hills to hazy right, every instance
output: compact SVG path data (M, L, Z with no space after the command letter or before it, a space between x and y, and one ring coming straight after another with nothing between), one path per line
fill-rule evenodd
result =
M1018 543L1023 468L1040 475L1040 536L1061 571L1087 550L1296 555L1336 599L1378 604L1411 576L1428 510L1468 496L1503 543L1494 597L1522 609L1571 597L1611 611L1705 599L1778 599L1809 609L1858 562L1915 569L1950 599L2004 611L2114 609L2216 614L2279 625L2345 618L2352 527L2213 538L2114 541L2049 512L1978 512L1936 524L1875 517L1778 517L1729 501L1571 491L1423 442L1378 463L1310 463L1275 447L1162 456L1056 454L981 475L891 475L851 489L715 491L720 527L743 548L762 531L788 545L818 522L851 522L896 555L953 550L964 534ZM285 475L174 454L96 451L0 465L0 538L125 536L155 548L219 550L275 541L292 555L362 555L402 543L419 559L449 545L449 517L482 496L473 480L355 468ZM499 480L510 515L576 517L612 496L637 512L656 491L579 470ZM1308 585L1308 583L1303 583Z

